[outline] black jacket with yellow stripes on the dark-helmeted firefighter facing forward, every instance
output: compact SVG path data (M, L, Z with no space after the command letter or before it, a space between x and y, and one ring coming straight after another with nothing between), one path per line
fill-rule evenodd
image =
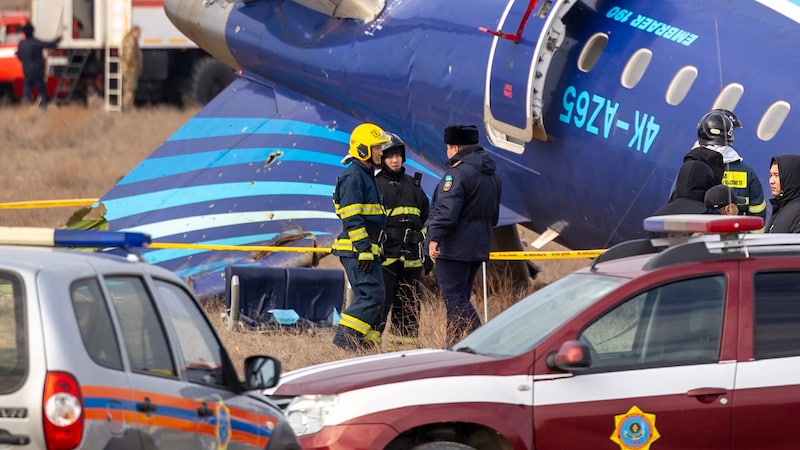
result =
M403 268L422 267L420 249L425 240L423 226L428 220L428 197L405 167L394 172L383 168L376 176L386 209L384 266L403 260Z

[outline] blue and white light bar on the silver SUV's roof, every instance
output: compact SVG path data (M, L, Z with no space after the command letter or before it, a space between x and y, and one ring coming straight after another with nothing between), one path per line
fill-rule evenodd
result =
M0 227L0 244L38 247L145 247L149 234L127 231L57 230L36 227Z

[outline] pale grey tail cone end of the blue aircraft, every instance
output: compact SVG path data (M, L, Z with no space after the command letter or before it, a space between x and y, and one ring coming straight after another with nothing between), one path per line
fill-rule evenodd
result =
M233 69L239 63L225 39L228 17L234 3L208 0L164 0L164 11L173 25L198 47Z

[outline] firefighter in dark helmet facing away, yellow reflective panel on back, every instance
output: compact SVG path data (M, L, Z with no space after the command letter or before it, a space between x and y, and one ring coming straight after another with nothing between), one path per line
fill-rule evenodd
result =
M740 206L740 214L766 219L767 202L761 181L756 171L732 147L733 132L737 128L742 128L742 123L736 114L727 109L712 109L697 124L697 143L722 154L725 164L722 184L746 201Z

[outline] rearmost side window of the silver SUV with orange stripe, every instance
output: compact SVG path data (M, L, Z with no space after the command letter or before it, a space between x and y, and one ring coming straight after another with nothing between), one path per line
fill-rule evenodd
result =
M100 283L94 278L75 281L70 297L86 351L96 363L122 369L119 341Z

